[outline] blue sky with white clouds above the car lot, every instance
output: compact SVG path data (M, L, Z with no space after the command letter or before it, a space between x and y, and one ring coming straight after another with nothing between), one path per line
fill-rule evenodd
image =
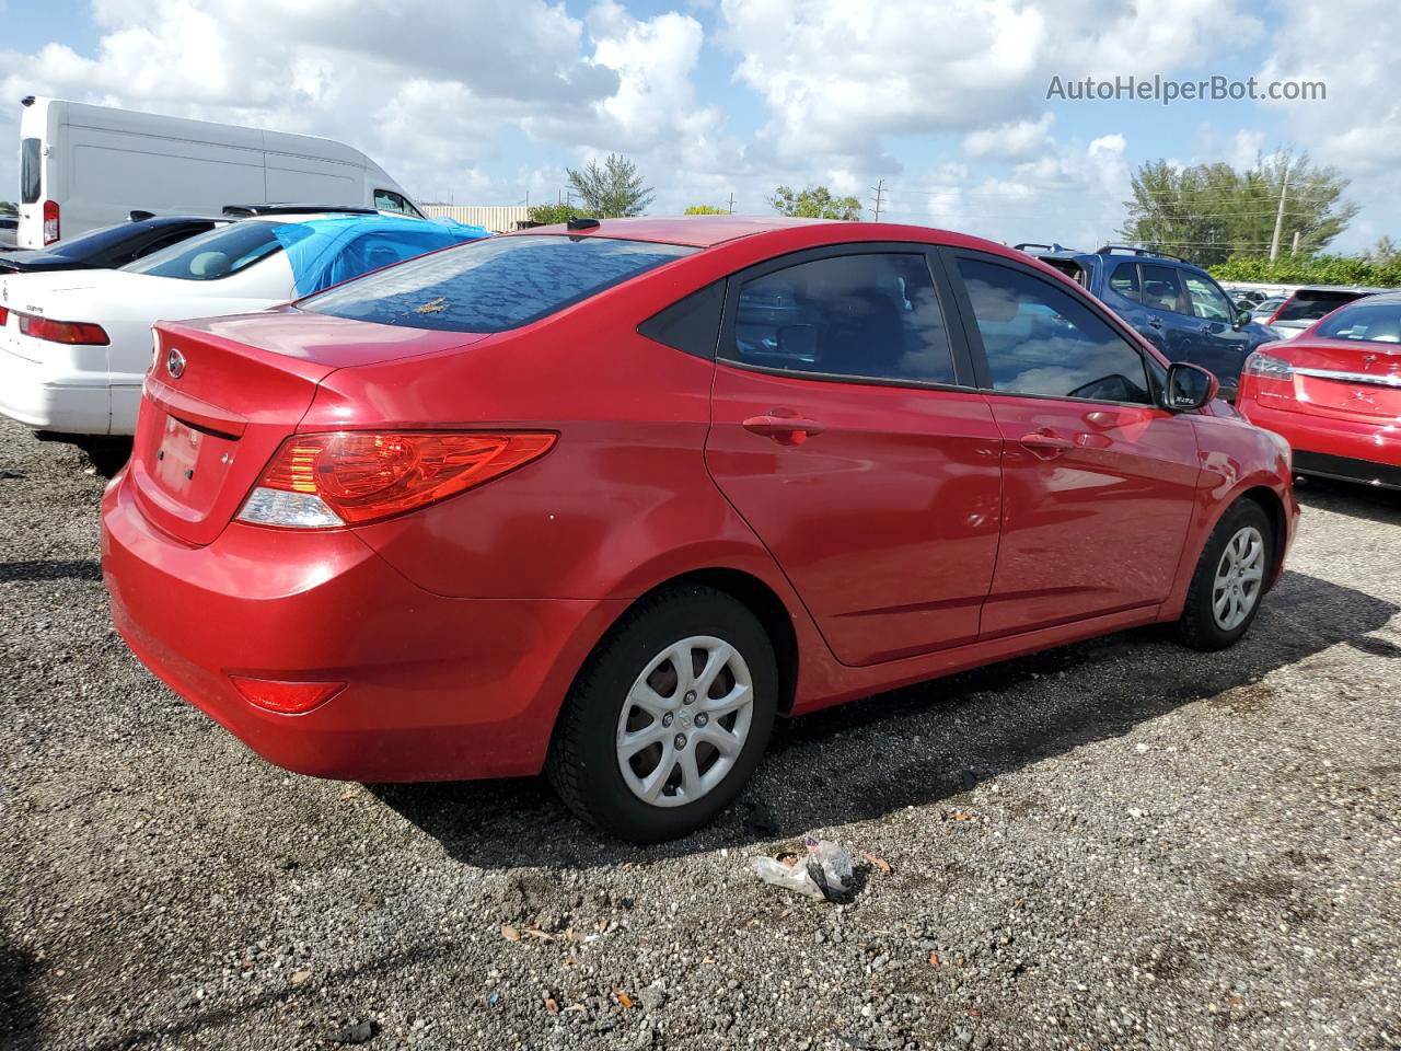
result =
M566 168L616 151L654 214L731 193L765 214L775 186L824 184L870 217L880 184L883 219L1083 248L1117 238L1145 161L1293 149L1362 206L1335 249L1401 238L1393 0L0 0L0 17L15 146L39 94L339 139L420 200L555 200ZM1048 98L1054 78L1129 76L1327 98Z

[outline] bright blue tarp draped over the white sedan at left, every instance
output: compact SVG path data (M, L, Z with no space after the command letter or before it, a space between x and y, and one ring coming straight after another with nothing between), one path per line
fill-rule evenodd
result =
M284 223L273 237L287 252L297 294L310 296L361 273L490 234L465 223L396 216L335 216Z

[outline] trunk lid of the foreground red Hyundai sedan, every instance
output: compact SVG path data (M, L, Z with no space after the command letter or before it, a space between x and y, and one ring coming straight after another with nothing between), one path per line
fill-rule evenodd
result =
M284 308L160 322L156 338L130 485L153 524L203 547L242 507L326 376L482 336L427 334Z

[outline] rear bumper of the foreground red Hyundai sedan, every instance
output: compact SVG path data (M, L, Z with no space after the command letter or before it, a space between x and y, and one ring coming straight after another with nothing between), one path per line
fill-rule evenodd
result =
M569 682L616 612L616 603L436 596L340 530L233 524L192 548L156 530L122 479L102 502L118 631L186 701L301 774L538 772ZM346 687L304 715L277 715L230 674Z

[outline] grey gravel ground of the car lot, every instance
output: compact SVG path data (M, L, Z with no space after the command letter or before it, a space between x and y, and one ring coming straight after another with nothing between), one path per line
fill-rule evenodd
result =
M6 1048L1401 1047L1398 499L1303 490L1231 652L1129 632L780 726L637 849L539 782L245 751L109 628L84 465L0 427ZM754 879L807 831L890 872Z

